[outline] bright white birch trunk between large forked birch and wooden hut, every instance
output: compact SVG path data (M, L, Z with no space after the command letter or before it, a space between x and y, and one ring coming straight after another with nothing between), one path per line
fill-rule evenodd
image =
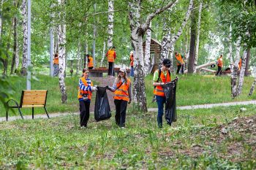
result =
M149 28L146 31L146 45L145 45L145 57L144 57L144 69L145 74L148 73L150 65L150 44L151 44L151 22Z

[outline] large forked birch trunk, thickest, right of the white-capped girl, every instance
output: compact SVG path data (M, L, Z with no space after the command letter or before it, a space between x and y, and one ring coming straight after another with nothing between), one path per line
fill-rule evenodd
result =
M132 47L135 50L134 55L134 101L138 107L141 108L143 112L147 112L146 106L146 93L145 93L145 72L144 72L144 61L143 61L143 34L148 29L151 20L160 13L164 12L169 7L174 7L177 3L176 1L171 1L165 7L156 9L153 13L146 17L146 21L142 23L142 18L140 18L141 1L140 0L130 0L128 1L128 18L129 26L131 29L131 40Z

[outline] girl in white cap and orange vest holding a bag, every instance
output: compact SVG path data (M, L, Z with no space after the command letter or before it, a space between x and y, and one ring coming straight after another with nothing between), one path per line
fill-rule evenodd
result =
M121 68L119 70L118 77L116 78L113 87L109 87L108 90L114 92L116 124L119 125L119 127L124 128L127 115L127 104L130 104L132 101L132 87L130 80L127 78L126 69Z

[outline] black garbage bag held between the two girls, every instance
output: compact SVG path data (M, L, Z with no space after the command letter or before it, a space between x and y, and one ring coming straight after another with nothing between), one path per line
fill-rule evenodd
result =
M108 103L107 88L97 87L95 107L94 107L94 119L96 121L107 120L111 117L110 106Z

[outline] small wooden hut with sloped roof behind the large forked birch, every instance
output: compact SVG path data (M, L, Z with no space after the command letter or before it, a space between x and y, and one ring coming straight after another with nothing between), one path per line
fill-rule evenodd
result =
M145 54L146 42L143 42L143 55ZM159 67L159 60L161 54L162 45L157 39L151 39L150 42L150 66L148 73L154 73L155 70Z

